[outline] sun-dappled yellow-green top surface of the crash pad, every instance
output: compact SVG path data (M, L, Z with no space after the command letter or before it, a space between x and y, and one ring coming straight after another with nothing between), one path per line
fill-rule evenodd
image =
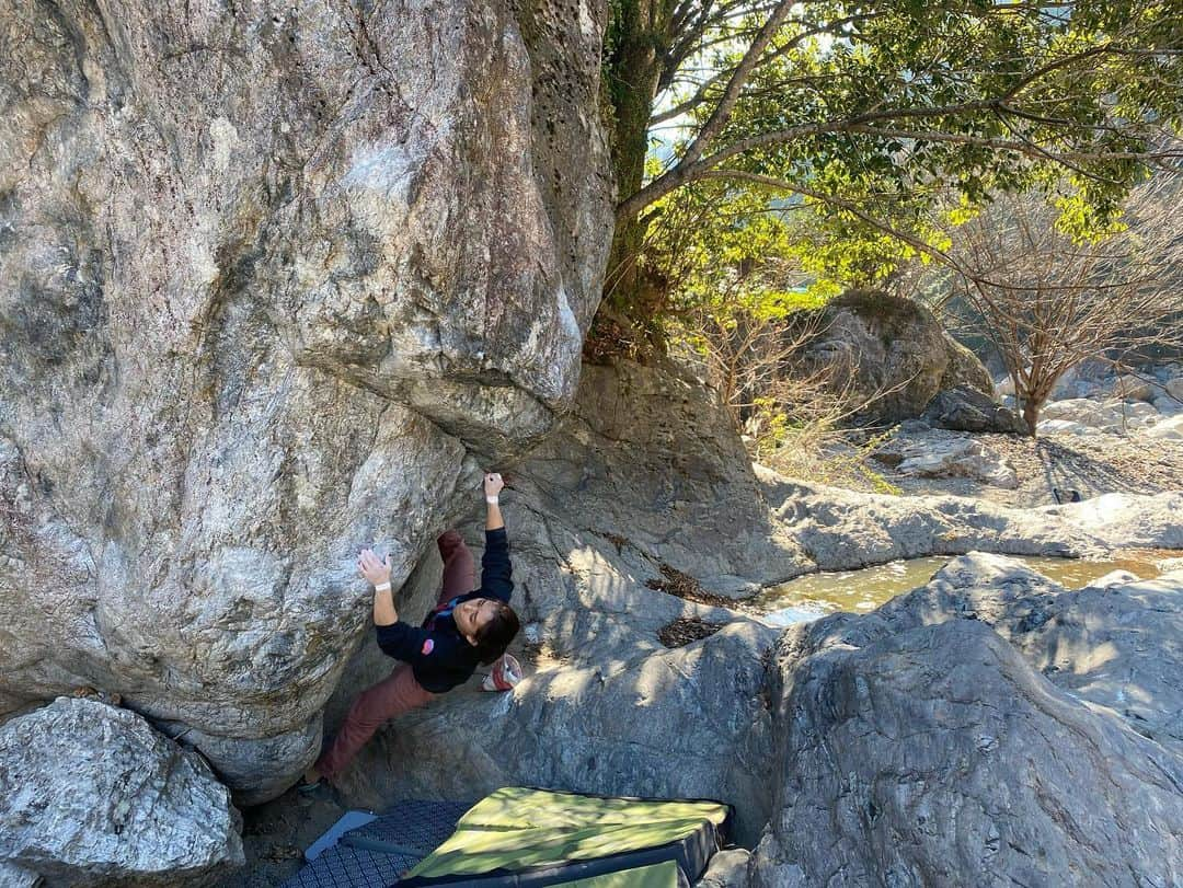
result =
M675 844L712 828L722 831L728 805L718 802L602 798L549 790L506 787L478 802L465 814L444 844L407 874L407 880L454 879L516 873L541 867L592 861ZM627 867L627 862L621 860ZM673 869L658 863L652 884L677 884ZM632 869L634 881L641 870ZM672 874L674 882L670 882ZM607 888L615 882L592 875L576 884ZM603 875L616 875L608 873ZM697 873L689 873L689 877ZM665 881L662 881L662 879ZM648 886L651 882L646 881Z

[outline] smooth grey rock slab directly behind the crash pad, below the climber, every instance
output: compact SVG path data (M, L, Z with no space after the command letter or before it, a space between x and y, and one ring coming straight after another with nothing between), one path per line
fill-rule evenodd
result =
M770 814L764 673L775 629L741 621L673 650L470 685L383 727L343 776L353 804L477 799L498 786L717 798L751 842Z

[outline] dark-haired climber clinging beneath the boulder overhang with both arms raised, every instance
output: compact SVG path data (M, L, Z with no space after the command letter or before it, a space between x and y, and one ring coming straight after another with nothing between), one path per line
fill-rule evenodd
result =
M435 540L444 558L444 589L420 628L399 621L390 592L390 556L380 559L369 549L362 550L357 566L374 586L377 644L402 663L354 701L336 738L305 772L302 791L313 792L323 780L332 782L383 721L463 685L478 663L487 666L505 654L517 635L518 617L509 605L513 583L498 501L504 486L496 472L485 475L480 588L470 591L476 585L472 553L459 533L448 531Z

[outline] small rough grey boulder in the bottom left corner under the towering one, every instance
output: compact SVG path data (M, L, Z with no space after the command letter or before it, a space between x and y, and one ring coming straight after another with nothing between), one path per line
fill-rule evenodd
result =
M243 864L240 828L205 761L132 712L60 698L0 727L0 877L211 884Z

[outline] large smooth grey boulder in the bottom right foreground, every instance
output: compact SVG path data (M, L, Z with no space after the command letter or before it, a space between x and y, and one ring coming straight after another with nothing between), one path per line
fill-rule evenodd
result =
M776 814L754 884L1183 879L1183 759L984 623L842 616L790 630L777 659Z

